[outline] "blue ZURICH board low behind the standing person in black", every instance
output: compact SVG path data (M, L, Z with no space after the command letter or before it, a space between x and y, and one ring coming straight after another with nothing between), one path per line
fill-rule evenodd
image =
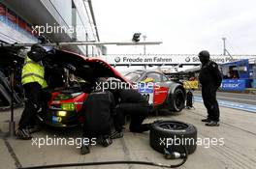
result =
M223 79L221 82L221 89L224 91L244 91L245 88L245 79Z

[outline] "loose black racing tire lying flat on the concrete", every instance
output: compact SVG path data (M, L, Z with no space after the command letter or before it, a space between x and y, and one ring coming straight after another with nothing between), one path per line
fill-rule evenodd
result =
M197 148L197 128L178 121L156 121L149 133L150 146L159 153L172 147L174 152L183 153L182 146L188 154L193 154Z

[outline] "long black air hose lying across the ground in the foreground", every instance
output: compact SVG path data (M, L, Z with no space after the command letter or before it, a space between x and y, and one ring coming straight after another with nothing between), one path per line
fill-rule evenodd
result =
M155 162L147 162L147 161L102 161L102 162L85 162L85 163L67 163L67 164L52 164L52 165L44 165L44 166L33 166L33 167L20 167L18 169L40 169L40 168L64 168L64 167L79 167L79 166L90 166L90 165L113 165L113 164L138 164L138 165L150 165L155 167L164 167L164 168L176 168L183 165L187 160L187 150L184 146L182 146L184 150L184 156L182 157L182 161L176 165L168 165L161 164Z

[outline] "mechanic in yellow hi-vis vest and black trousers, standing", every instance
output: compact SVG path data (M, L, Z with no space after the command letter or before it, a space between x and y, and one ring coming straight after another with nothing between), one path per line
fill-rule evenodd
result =
M18 123L16 137L31 139L30 133L34 128L36 113L40 109L42 89L46 88L45 68L42 60L46 50L41 44L34 44L27 53L21 74L21 83L25 91L25 108Z

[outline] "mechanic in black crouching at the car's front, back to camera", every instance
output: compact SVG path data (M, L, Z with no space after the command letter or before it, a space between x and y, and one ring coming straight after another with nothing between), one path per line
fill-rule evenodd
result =
M86 139L95 139L104 147L112 144L112 116L114 114L115 102L112 93L105 88L105 79L96 81L96 90L89 94L84 101L82 116L84 116L83 134ZM99 86L101 86L99 88ZM89 145L82 144L80 154L90 153Z

